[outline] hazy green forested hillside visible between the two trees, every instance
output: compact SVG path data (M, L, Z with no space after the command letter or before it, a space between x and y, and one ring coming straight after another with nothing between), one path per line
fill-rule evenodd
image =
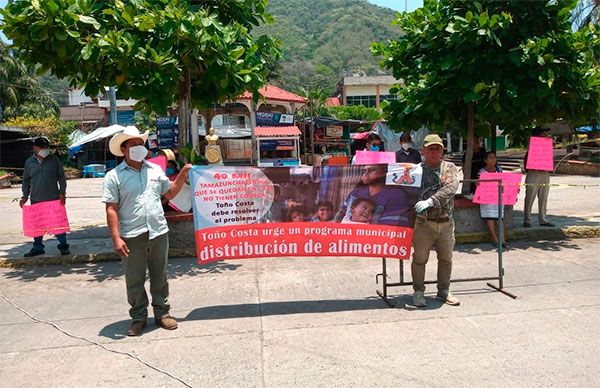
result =
M369 51L373 41L398 36L395 11L367 0L270 0L275 23L257 33L283 42L284 59L274 82L288 90L319 87L333 92L344 69L368 75L382 71Z

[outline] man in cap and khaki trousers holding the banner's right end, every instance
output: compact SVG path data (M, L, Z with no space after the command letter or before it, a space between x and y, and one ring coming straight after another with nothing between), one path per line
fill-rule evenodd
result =
M427 306L425 299L425 266L435 246L438 260L437 299L458 306L460 301L450 293L452 251L454 250L454 195L458 188L458 170L442 160L444 143L435 134L423 141L424 162L421 194L415 205L417 219L413 232L413 304Z

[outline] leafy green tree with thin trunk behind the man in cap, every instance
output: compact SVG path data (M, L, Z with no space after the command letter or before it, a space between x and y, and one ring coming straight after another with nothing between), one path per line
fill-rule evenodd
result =
M518 131L600 113L598 29L571 28L575 0L425 0L402 13L404 35L374 44L403 85L385 113L395 128L467 132L476 123ZM466 130L466 131L465 131ZM469 142L470 143L470 142ZM472 149L467 148L469 174Z

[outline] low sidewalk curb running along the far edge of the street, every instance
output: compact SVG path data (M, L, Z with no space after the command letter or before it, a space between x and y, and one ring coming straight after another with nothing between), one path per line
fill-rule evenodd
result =
M600 237L598 226L565 226L562 228L518 228L507 232L507 239L512 240L565 240L572 238ZM490 242L487 233L467 233L456 235L457 244L477 244ZM169 258L195 257L195 248L172 248ZM65 256L38 256L38 257L0 257L0 268L18 268L46 265L68 265L101 263L105 261L120 261L121 257L114 252L98 252L89 254L72 254Z

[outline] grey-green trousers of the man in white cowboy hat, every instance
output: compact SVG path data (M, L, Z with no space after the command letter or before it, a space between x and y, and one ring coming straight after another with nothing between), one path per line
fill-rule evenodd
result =
M129 257L123 258L127 301L131 308L129 315L134 321L146 321L148 318L148 295L146 268L150 275L150 295L154 318L169 313L169 283L167 282L167 264L169 253L169 233L148 239L148 232L132 238L124 238L129 248Z

